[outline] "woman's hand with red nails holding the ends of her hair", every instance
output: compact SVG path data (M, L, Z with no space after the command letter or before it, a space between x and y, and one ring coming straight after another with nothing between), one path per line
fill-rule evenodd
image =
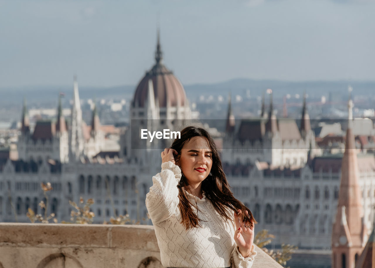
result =
M245 212L248 215L248 211ZM236 223L236 232L234 232L234 240L237 243L241 255L246 258L251 253L254 241L254 223L248 221L243 222L242 211L238 210L234 213L234 222Z

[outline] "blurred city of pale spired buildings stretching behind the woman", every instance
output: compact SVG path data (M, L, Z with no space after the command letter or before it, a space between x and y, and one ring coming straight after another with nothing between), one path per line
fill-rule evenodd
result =
M0 221L29 222L28 208L43 214L40 183L50 182L48 210L59 222L71 218L69 200L83 197L95 200L94 223L129 214L133 222L151 224L145 195L170 141L139 150L131 135L200 121L214 136L234 195L252 210L257 229L275 234L274 249L299 247L290 267L331 267L336 254L358 258L375 216L375 98L366 91L375 84L353 89L355 82L337 82L332 87L340 90L331 91L328 82L299 82L288 90L284 82L243 79L216 89L184 88L162 55L158 39L155 63L133 93L126 87L80 91L74 78L71 90L51 97L33 90L3 101ZM355 153L348 162L350 150ZM361 194L345 197L352 186ZM352 199L360 202L357 213ZM344 218L350 223L345 239L333 228ZM360 246L342 253L335 239Z

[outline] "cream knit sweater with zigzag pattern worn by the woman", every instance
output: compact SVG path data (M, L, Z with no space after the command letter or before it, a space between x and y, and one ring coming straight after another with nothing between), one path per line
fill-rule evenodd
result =
M172 162L162 163L162 171L153 178L146 196L146 207L155 227L157 243L164 267L188 268L250 268L257 252L244 258L234 241L234 223L223 220L210 200L190 195L198 205L202 227L181 225L177 184L181 170ZM194 209L196 211L196 208Z

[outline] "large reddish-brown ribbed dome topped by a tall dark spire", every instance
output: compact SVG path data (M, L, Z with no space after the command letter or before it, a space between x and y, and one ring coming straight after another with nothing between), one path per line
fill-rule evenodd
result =
M155 101L159 107L184 106L187 104L185 90L181 82L162 64L162 51L160 49L159 33L155 52L155 65L147 71L139 82L133 98L133 107L144 107L147 103L148 81L151 79L154 88Z

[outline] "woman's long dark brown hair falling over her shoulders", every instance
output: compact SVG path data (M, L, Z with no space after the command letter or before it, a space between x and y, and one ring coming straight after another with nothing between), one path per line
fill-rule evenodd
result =
M225 220L234 220L233 214L231 214L230 211L234 211L237 213L237 210L240 209L242 211L242 214L240 214L239 217L242 216L244 222L247 222L252 226L257 223L249 208L247 208L242 202L237 200L229 189L230 186L228 184L228 181L226 180L221 165L219 152L217 151L216 144L211 135L205 129L194 126L185 127L183 130L181 130L180 133L180 139L175 139L170 147L176 150L178 153L178 156L175 157L176 165L178 165L178 160L181 156L181 149L187 142L190 141L191 138L200 136L207 139L208 145L210 146L212 151L212 168L210 175L208 175L207 178L202 181L202 190L204 191L206 198L211 201L217 213L219 213L219 215L222 216ZM180 212L182 217L181 224L186 226L186 229L201 226L201 220L192 210L192 206L195 206L195 204L192 204L187 198L185 190L190 193L192 193L192 191L187 184L187 180L183 174L177 187L178 198L180 199ZM246 215L245 211L248 211L248 215Z

